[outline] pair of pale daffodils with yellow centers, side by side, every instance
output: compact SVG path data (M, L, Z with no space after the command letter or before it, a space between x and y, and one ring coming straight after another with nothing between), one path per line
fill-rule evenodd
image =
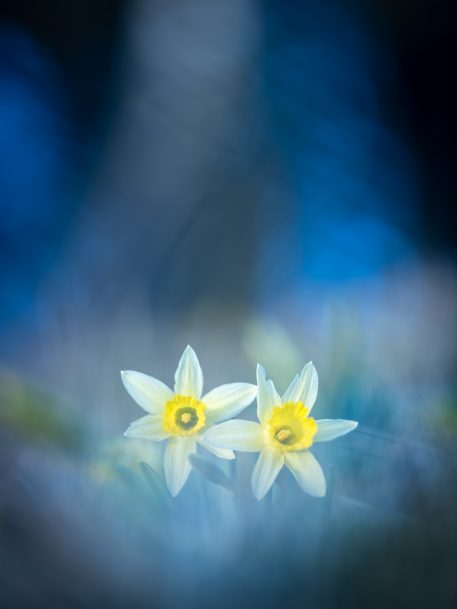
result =
M179 361L174 391L141 372L127 370L121 376L131 397L148 413L134 421L124 435L167 441L165 481L173 497L189 477L192 466L188 457L196 452L197 444L222 459L234 459L234 450L258 452L252 490L259 500L284 465L304 491L322 497L325 477L309 448L315 442L334 440L357 427L355 421L315 420L309 416L318 389L317 372L311 362L292 380L282 398L260 365L257 386L229 383L202 397L203 373L190 346ZM232 419L256 396L258 422Z

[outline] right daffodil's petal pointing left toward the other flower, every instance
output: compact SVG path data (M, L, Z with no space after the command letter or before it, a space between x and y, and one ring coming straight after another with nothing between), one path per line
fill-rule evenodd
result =
M264 431L259 423L232 419L210 427L203 440L218 448L258 452L264 446Z

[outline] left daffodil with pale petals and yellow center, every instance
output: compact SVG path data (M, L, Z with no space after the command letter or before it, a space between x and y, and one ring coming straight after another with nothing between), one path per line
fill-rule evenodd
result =
M229 448L207 445L202 435L214 423L225 421L246 408L256 396L255 385L221 385L202 397L203 373L195 351L189 346L179 360L174 391L141 372L124 370L121 376L131 397L149 413L134 421L124 435L156 442L167 440L165 481L173 497L189 477L191 464L187 457L196 452L197 443L222 459L235 458Z

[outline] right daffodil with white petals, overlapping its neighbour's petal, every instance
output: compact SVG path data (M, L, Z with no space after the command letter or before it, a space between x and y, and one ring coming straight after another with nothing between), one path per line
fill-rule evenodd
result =
M343 419L315 420L309 416L317 397L317 372L312 362L293 379L282 399L265 370L257 366L257 417L259 423L234 419L209 429L207 445L260 452L252 473L252 490L262 499L286 465L304 491L323 497L326 491L321 466L309 451L314 442L327 442L358 425Z

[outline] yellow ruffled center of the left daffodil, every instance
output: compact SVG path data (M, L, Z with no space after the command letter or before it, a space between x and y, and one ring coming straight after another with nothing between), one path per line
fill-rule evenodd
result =
M205 426L206 406L188 395L175 395L165 404L163 428L172 436L192 436Z

